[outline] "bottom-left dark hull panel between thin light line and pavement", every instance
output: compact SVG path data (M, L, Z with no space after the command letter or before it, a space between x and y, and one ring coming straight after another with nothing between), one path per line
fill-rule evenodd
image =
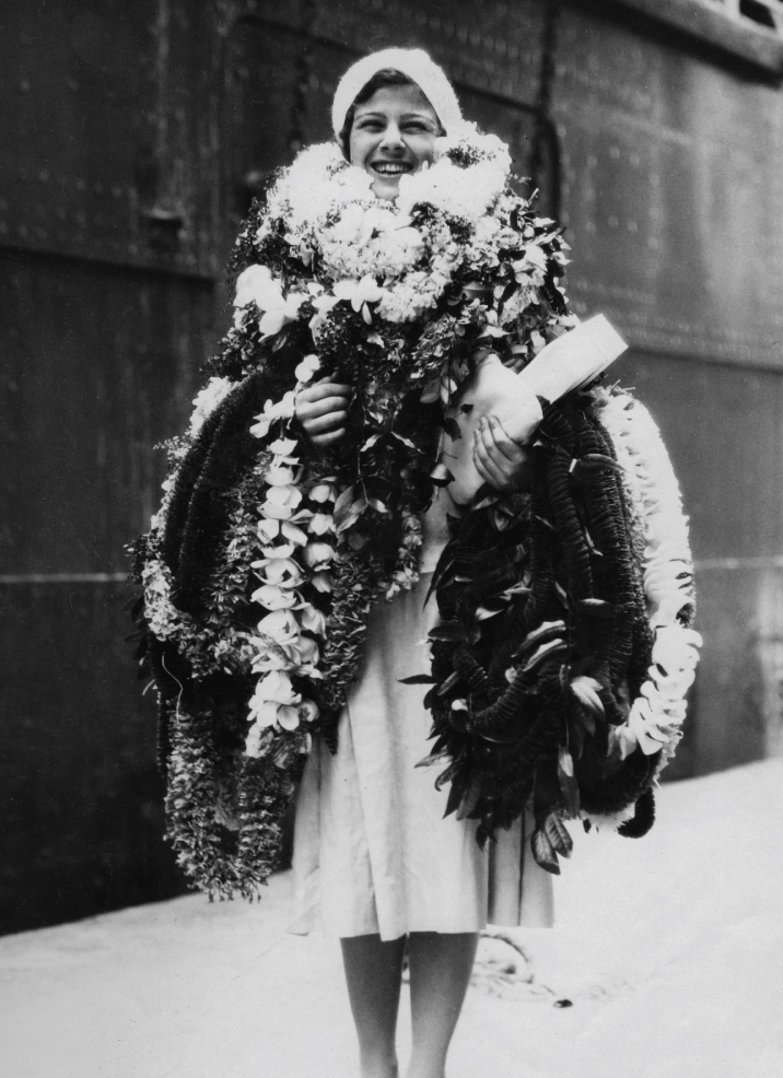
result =
M142 700L127 589L0 585L0 933L183 890L162 841L153 702Z

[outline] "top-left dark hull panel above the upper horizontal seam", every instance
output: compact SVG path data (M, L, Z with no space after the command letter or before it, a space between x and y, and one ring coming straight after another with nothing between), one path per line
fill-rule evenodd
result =
M212 22L171 0L5 5L0 245L219 272L215 110L190 104L214 96Z

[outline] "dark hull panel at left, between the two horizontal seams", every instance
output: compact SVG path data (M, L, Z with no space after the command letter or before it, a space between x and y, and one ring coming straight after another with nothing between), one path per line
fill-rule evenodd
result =
M0 253L2 573L121 572L189 411L211 286Z

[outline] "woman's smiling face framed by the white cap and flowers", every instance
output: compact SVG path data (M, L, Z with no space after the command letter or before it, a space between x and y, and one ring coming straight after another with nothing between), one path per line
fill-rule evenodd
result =
M382 86L357 106L351 126L351 164L373 177L378 198L396 198L399 178L433 159L441 124L418 86Z

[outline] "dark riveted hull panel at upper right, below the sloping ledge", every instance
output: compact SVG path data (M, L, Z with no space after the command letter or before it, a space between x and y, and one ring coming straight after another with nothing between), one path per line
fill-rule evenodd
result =
M640 347L783 365L779 92L563 10L554 112L570 289Z

